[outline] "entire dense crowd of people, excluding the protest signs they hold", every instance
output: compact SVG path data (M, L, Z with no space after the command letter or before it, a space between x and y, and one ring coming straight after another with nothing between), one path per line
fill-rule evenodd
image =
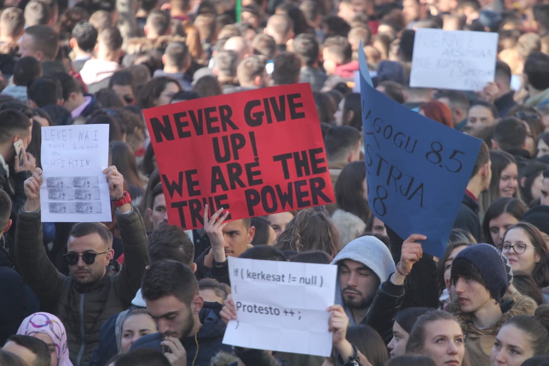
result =
M1 366L549 365L549 4L0 0L0 10ZM422 27L497 32L494 81L410 87ZM459 211L446 212L456 221L440 258L368 205L360 42L380 93L483 140ZM201 229L168 224L142 110L297 82L313 91L335 202L233 221L206 206ZM42 223L41 127L97 123L109 125L112 221ZM223 344L238 319L228 256L337 266L330 356Z

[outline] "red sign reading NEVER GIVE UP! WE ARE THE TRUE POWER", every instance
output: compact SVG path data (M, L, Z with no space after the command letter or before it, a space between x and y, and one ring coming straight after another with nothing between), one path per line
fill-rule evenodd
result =
M168 221L203 226L335 202L309 84L189 100L143 111Z

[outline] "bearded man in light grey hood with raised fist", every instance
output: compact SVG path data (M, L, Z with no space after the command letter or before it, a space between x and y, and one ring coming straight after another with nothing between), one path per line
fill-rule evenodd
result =
M421 244L427 239L412 234L402 244L395 267L388 247L376 237L352 240L335 256L338 266L335 303L342 305L349 324L367 324L376 329L385 342L392 336L393 322L404 299L404 281L412 266L421 258Z

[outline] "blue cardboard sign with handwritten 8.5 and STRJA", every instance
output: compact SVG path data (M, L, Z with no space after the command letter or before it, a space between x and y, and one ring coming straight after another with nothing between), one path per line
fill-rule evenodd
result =
M366 63L360 70L372 213L403 239L426 235L423 250L440 257L482 141L396 103L369 85Z

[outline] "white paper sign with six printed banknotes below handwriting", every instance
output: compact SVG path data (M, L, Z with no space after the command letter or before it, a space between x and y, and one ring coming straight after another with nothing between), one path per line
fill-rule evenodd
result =
M42 222L112 221L109 125L42 127Z

